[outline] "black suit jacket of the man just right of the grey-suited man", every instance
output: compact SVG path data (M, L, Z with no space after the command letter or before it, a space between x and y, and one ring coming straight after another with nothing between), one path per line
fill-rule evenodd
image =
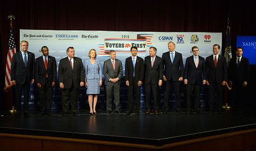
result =
M134 78L133 78L134 70ZM141 57L137 56L135 63L135 69L133 69L133 60L130 57L125 60L125 80L128 80L130 85L133 83L133 80L137 83L139 80L142 81L144 76L144 61Z

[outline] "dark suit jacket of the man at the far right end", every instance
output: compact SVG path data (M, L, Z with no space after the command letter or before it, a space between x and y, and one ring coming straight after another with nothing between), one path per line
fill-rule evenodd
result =
M232 83L239 83L249 81L250 65L249 60L242 56L239 67L237 67L237 58L232 58L229 62L229 80Z

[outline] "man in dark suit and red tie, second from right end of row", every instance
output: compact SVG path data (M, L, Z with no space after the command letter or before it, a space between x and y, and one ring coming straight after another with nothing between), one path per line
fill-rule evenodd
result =
M219 55L220 45L213 45L213 55L205 59L206 83L209 86L209 112L214 108L215 93L217 96L217 112L221 112L223 86L228 80L226 58Z

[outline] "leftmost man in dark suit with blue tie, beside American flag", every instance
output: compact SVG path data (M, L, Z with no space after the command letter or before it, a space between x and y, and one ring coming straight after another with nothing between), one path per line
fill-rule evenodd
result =
M30 117L28 112L28 99L30 95L30 83L34 83L34 65L35 54L28 52L28 42L21 41L20 48L22 51L15 53L12 57L11 80L15 85L16 110L17 117L24 112L25 117ZM23 110L21 107L23 91Z

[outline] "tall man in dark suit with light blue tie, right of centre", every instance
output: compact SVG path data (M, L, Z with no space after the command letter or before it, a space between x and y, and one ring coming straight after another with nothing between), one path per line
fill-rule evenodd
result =
M175 43L168 42L168 52L163 53L163 80L166 82L163 112L168 112L168 101L171 88L175 93L176 112L180 112L180 82L183 80L183 58L175 51Z

